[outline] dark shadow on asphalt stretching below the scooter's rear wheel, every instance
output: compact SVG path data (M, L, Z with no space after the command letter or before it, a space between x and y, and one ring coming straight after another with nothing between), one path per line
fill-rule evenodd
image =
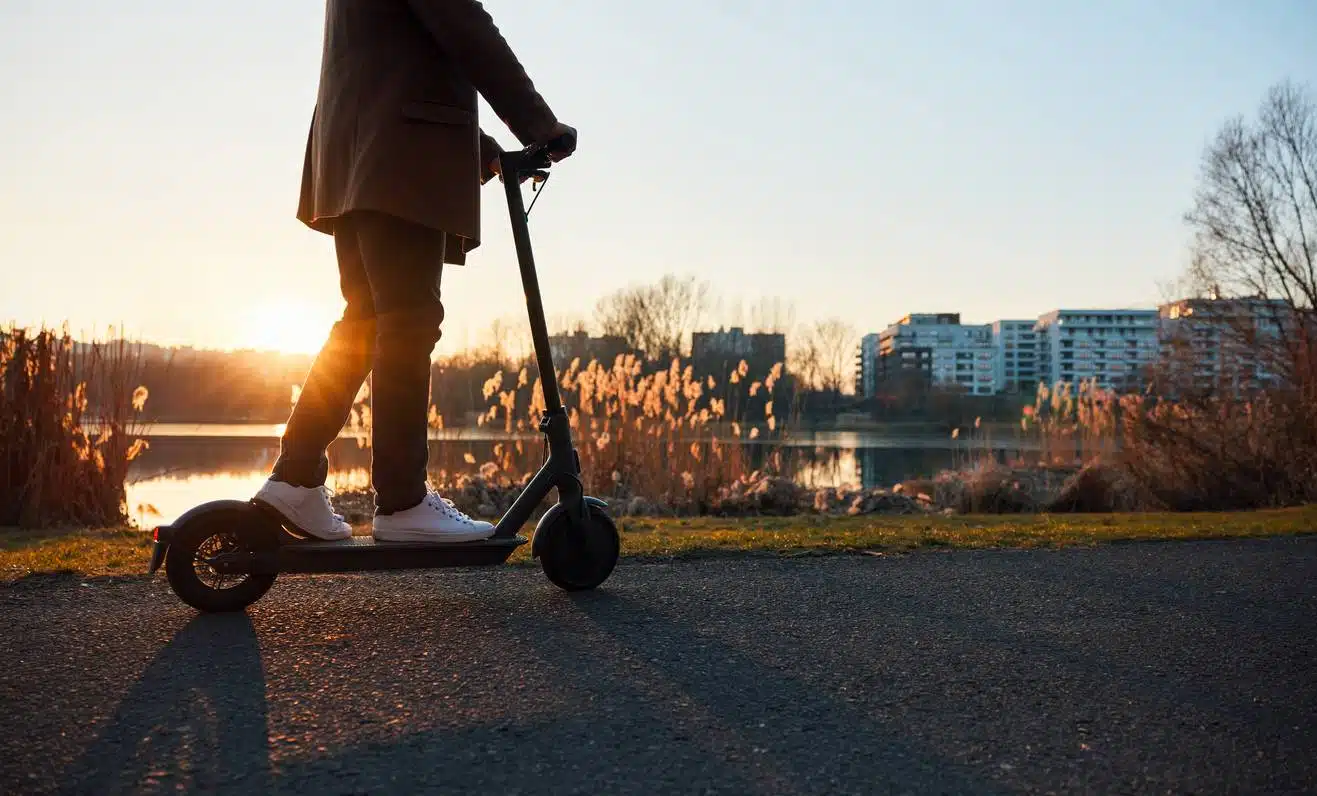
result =
M270 787L265 669L246 614L188 622L68 771L65 793Z

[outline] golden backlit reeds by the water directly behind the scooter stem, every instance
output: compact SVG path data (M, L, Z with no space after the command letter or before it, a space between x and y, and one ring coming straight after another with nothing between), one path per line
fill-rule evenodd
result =
M769 453L751 467L743 443L766 440L785 432L778 386L781 362L755 377L741 361L723 380L698 377L689 362L672 360L665 369L647 368L633 356L618 356L611 365L573 360L558 374L573 439L581 456L586 492L614 498L644 497L674 513L705 513L719 492L752 474L777 473L781 455ZM527 368L498 370L483 385L487 409L478 426L508 435L494 444L493 459L478 461L461 445L439 444L431 451L432 480L440 489L456 485L465 473L478 472L493 484L518 484L544 461L543 441L533 419L544 411L539 378ZM369 389L357 395L349 431L358 444L370 438ZM763 412L761 424L732 418L744 410ZM444 428L437 407L431 426ZM524 436L524 438L523 438Z

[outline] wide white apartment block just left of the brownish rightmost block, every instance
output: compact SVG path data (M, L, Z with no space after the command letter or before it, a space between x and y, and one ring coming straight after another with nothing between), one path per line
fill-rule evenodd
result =
M1034 326L1038 374L1048 382L1094 381L1135 389L1158 361L1156 310L1052 310Z

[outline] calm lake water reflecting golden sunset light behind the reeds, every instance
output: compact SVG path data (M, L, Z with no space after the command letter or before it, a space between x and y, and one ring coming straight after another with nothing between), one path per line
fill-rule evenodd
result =
M128 511L142 527L170 522L196 503L250 498L279 453L279 424L158 423L148 428L150 448L129 468ZM460 460L470 452L486 461L493 447L540 445L537 434L510 435L487 428L432 431L436 452ZM946 436L878 431L797 432L785 440L753 443L752 456L784 452L785 468L817 486L890 486L903 478L931 476L963 464L971 455L993 451L998 459L1027 455L1017 439L951 440ZM332 489L370 484L370 451L340 438L329 449ZM466 467L466 465L461 465ZM470 465L474 469L474 465Z

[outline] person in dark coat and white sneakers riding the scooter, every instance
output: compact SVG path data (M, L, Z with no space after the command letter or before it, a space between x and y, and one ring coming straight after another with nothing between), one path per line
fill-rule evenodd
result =
M576 140L477 0L328 0L298 219L333 236L346 307L253 498L307 535L352 535L329 503L325 451L371 370L374 538L494 534L427 478L440 277L479 245L479 186L502 153L479 127L478 95L523 145Z

